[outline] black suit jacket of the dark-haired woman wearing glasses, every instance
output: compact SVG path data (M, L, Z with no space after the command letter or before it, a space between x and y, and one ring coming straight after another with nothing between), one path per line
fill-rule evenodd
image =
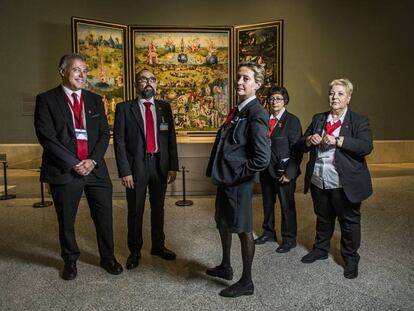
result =
M280 177L277 173L278 168L284 168L284 174L289 179L300 175L300 163L302 162L303 153L296 148L296 143L301 136L302 126L299 119L286 110L270 135L272 154L267 168L270 176L273 178ZM287 158L289 158L288 161L282 161L282 159Z

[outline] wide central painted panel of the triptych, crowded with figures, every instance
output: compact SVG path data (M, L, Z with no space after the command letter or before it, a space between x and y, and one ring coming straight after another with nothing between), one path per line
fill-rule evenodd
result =
M179 132L217 131L230 104L227 32L135 32L135 72L158 77Z

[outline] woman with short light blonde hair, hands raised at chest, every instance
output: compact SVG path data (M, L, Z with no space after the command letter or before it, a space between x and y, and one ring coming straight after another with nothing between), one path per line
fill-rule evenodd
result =
M358 276L361 244L361 202L372 193L365 156L371 153L372 132L368 118L349 108L353 85L348 79L329 84L330 110L313 116L298 146L310 152L305 193L311 190L316 214L313 249L303 263L327 259L335 219L341 227L344 276Z

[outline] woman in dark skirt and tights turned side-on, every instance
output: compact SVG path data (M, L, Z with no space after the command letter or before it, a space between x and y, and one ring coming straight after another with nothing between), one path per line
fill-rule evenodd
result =
M270 161L267 137L269 115L256 98L264 81L264 69L256 63L241 63L235 81L238 104L217 133L207 176L217 185L215 220L220 232L221 264L207 269L211 276L231 280L232 233L240 238L243 260L241 279L220 292L224 297L252 295L251 268L254 257L252 195L259 172Z

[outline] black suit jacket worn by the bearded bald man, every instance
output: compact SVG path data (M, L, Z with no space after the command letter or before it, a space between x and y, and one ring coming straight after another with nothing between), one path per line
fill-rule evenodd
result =
M177 141L170 104L155 100L157 115L157 144L161 173L178 171ZM168 123L168 130L160 124ZM114 147L119 177L132 175L134 180L146 170L145 129L138 99L116 105Z

